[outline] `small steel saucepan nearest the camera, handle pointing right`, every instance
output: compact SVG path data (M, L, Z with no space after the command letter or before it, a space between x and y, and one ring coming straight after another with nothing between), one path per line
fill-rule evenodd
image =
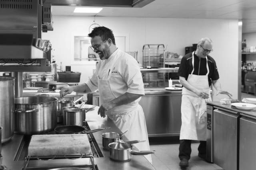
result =
M127 142L113 142L108 145L110 159L116 161L130 161L132 159L132 155L146 155L153 154L155 150L144 150L144 151L136 151L132 150L132 143Z

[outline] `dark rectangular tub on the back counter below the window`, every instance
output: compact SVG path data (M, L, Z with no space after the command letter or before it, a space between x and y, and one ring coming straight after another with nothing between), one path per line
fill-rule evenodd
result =
M57 72L59 76L58 82L63 83L78 83L80 82L80 72Z

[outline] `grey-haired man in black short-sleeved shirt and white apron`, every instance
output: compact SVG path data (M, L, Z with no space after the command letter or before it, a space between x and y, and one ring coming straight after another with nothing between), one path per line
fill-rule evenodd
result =
M206 102L211 101L210 86L213 84L217 94L222 91L216 63L208 54L212 52L212 40L202 38L196 51L185 55L178 70L182 88L180 147L180 166L187 167L191 154L191 140L200 141L198 156L205 159L206 154Z

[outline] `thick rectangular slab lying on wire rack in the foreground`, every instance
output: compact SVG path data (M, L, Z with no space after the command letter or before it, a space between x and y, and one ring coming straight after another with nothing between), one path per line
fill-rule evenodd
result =
M90 154L86 134L32 135L28 156L64 156Z

